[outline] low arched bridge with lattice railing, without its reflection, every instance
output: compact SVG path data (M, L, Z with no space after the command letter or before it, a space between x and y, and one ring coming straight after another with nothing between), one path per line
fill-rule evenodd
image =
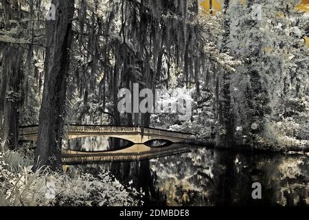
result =
M38 125L21 126L21 140L36 141L38 138ZM192 134L163 129L144 128L140 126L109 126L109 125L66 125L65 135L68 139L78 137L117 137L133 142L133 144L144 144L150 140L168 140L173 143L181 143L188 140Z

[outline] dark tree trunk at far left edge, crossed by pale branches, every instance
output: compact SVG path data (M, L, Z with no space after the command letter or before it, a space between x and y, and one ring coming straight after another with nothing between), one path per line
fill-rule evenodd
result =
M4 11L4 28L16 28L10 20L21 20L18 1L1 1ZM14 10L12 9L14 8ZM16 36L17 37L17 36ZM0 138L10 149L18 144L19 109L21 107L21 63L22 52L19 45L5 45L3 50L0 84Z

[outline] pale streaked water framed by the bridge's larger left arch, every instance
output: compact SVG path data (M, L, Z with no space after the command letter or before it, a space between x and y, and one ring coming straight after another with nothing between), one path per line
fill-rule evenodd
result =
M73 151L111 151L126 148L132 142L116 137L78 137L68 140L67 148Z

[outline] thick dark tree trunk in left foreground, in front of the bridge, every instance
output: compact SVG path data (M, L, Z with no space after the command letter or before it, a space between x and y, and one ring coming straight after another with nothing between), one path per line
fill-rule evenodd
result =
M34 169L49 166L60 170L74 1L52 3L56 5L56 20L46 23L45 81Z

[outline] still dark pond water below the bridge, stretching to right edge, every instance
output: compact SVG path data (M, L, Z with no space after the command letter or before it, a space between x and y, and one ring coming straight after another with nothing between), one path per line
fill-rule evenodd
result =
M133 180L135 188L146 192L145 204L150 206L309 205L309 164L305 155L190 148L190 153L140 162L80 164L71 168L94 175L108 170L123 184ZM254 182L262 185L262 199L251 196Z

